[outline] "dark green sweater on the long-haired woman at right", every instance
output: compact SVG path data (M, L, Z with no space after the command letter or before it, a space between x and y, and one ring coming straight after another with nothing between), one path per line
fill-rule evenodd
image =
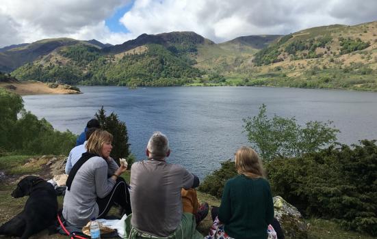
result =
M274 203L268 181L245 175L228 180L222 193L218 219L232 238L267 238L267 227L274 219Z

